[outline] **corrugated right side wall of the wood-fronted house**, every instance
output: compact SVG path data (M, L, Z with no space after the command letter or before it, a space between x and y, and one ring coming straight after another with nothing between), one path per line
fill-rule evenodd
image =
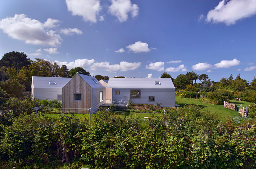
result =
M100 92L103 92L103 101L100 102ZM102 104L105 104L105 88L92 88L92 113L96 113Z

